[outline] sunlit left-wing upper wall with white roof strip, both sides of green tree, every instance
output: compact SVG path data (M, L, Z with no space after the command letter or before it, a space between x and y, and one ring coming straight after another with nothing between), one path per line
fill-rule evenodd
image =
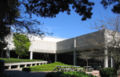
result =
M54 37L44 37L41 38L40 36L36 35L28 35L28 38L30 39L31 46L29 48L29 51L32 52L39 52L39 53L56 53L56 42L63 40L60 38L54 38ZM13 34L9 34L5 38L6 42L8 42L8 45L5 49L14 50L15 46L13 43Z

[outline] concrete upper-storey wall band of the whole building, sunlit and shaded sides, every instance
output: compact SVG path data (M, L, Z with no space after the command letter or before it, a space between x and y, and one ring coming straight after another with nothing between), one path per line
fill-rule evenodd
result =
M78 36L76 38L77 51L101 49L105 46L112 46L113 31L100 30L97 32L89 33L86 35ZM14 49L13 36L8 35L6 41L8 41L8 48ZM116 33L116 40L120 40L120 34ZM74 50L74 38L71 39L56 39L56 38L42 38L37 36L30 36L31 46L29 51L39 53L66 53ZM61 41L60 41L61 40ZM120 43L120 41L118 41Z

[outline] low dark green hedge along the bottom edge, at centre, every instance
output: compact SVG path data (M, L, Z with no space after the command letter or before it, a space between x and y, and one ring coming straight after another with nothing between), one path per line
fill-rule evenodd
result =
M48 73L46 77L94 77L84 72L52 72Z

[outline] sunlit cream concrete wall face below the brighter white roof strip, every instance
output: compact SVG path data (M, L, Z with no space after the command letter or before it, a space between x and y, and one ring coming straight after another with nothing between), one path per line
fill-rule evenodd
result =
M56 53L56 42L41 40L31 41L29 51L40 53Z

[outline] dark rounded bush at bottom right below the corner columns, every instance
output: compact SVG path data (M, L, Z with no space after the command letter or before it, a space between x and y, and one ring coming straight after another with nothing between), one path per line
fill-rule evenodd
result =
M116 77L116 71L113 68L103 68L100 70L101 77Z

